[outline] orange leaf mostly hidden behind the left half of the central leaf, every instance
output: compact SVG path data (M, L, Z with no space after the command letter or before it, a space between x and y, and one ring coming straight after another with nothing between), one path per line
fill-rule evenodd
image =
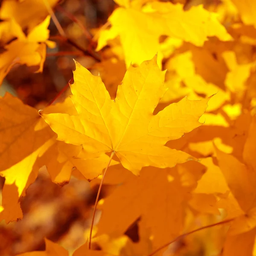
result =
M43 111L40 111L40 113L66 113L77 115L76 108L69 97L67 97L64 102L48 106ZM56 134L52 137L52 143L49 149L38 160L39 166L47 166L47 170L53 182L59 185L68 183L72 170L74 169L79 170L87 180L92 180L99 176L105 166L107 166L109 157L106 154L93 159L87 158L81 145L72 145L58 141L55 135ZM111 165L116 163L118 162L111 161Z

